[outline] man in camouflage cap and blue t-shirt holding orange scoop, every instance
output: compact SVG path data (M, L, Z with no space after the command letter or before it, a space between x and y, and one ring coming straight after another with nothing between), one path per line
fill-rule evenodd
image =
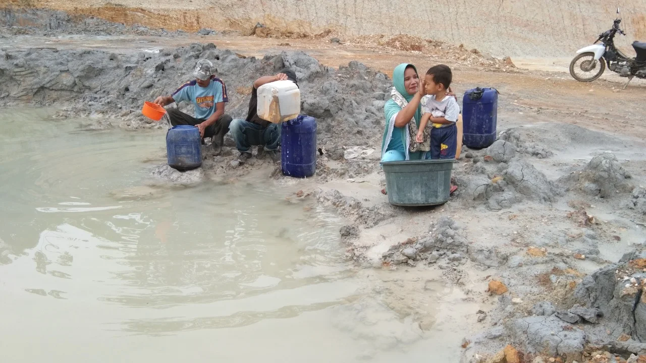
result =
M207 59L198 61L193 72L193 81L184 83L171 96L159 96L154 103L162 107L180 101L193 103L195 117L178 109L169 109L171 124L197 127L202 138L211 138L215 154L219 155L222 152L224 135L229 131L231 116L224 113L224 104L229 101L227 87L222 79L213 75L214 71L213 63Z

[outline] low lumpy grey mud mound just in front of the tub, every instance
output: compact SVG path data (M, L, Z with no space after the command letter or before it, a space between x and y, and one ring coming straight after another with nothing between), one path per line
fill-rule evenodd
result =
M383 254L382 261L393 265L414 265L416 262L435 264L442 259L452 263L454 267L466 262L468 242L464 231L455 221L443 216L431 225L429 232L430 237L424 236L391 246Z

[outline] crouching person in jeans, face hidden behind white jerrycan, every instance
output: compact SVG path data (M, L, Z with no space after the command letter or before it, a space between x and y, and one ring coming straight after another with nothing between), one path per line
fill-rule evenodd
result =
M251 90L249 112L246 119L234 119L229 129L231 136L236 141L242 161L251 158L252 146L264 146L264 151L271 160L280 160L278 146L280 145L280 124L270 123L258 117L258 87L273 81L296 81L296 73L291 69L283 69L275 76L264 76L256 79ZM297 83L298 85L298 83Z

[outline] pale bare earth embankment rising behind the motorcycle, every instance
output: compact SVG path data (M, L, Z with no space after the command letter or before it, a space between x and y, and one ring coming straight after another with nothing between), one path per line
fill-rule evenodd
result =
M602 0L576 3L546 0L487 0L419 3L317 0L9 0L8 5L67 10L110 21L154 28L196 31L200 28L249 31L256 23L285 32L318 34L330 28L345 36L410 34L464 43L494 56L560 56L589 45L615 18L615 4ZM627 0L620 6L629 47L646 39L646 1ZM393 12L397 11L396 14ZM630 49L632 50L632 49Z

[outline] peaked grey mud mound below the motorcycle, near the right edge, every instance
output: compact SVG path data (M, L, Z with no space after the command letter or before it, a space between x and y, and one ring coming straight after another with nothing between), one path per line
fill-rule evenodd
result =
M581 170L559 179L568 190L581 191L590 196L610 198L618 193L632 191L630 174L625 171L617 157L610 152L595 156Z

